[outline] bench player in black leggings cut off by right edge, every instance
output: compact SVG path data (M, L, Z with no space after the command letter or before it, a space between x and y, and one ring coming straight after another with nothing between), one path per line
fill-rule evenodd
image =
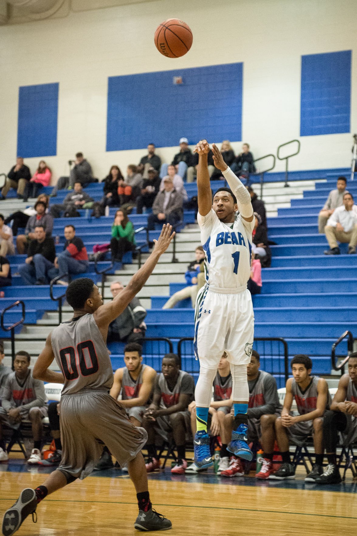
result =
M348 374L344 374L331 403L331 411L326 411L323 420L323 445L329 465L315 482L318 484L338 484L341 482L336 460L336 447L341 434L344 446L353 445L357 440L357 352L349 355Z

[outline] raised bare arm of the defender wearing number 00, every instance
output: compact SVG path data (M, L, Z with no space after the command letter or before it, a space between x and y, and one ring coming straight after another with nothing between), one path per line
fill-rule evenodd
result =
M163 225L159 239L154 240L155 247L145 264L130 279L128 285L115 296L113 301L100 306L94 312L93 317L99 329L106 329L110 322L113 322L115 318L122 314L133 297L143 288L157 265L160 256L165 253L174 236L175 232L172 232L172 226Z

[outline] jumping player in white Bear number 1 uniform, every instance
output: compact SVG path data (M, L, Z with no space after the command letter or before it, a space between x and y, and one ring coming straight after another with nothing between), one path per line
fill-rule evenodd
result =
M230 189L220 188L212 203L207 166L210 146L206 140L200 141L195 149L198 153L197 221L205 251L206 276L195 309L194 346L200 372L195 391L197 432L194 446L195 464L200 468L212 465L207 416L213 379L224 352L233 378L234 424L228 451L247 460L252 458L247 444L247 364L254 339L254 313L247 281L254 215L248 190L224 162L214 144L212 150L214 165L221 170Z

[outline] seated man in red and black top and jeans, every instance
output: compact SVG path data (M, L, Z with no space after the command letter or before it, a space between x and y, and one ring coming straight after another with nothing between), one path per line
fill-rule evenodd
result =
M55 258L55 267L58 275L68 273L84 273L88 268L88 255L83 241L76 236L76 229L73 225L66 225L64 228L66 239L62 253ZM60 285L68 285L67 277L58 281Z

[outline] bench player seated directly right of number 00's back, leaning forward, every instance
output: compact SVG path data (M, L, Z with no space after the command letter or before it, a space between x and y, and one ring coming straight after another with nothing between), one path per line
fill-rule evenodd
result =
M122 393L119 402L127 410L129 420L134 426L142 426L143 415L154 389L157 374L153 368L143 363L142 346L138 343L129 343L125 346L124 363L125 367L115 371L110 395L117 400ZM101 471L111 467L113 467L113 461L105 446L95 469ZM122 470L128 471L127 467L122 467Z

